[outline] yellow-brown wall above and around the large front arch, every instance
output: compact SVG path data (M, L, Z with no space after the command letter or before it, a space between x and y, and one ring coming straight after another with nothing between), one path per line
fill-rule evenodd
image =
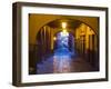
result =
M29 43L36 44L36 37L41 27L57 19L75 19L85 22L95 31L98 30L98 18L92 17L73 17L73 16L54 16L54 14L30 14L29 16Z

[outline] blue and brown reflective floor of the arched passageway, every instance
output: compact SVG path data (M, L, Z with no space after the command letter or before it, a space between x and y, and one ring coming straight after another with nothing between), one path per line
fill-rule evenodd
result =
M71 53L67 49L56 50L53 56L47 58L37 65L37 73L67 73L67 72L87 72L93 68L80 58L77 53Z

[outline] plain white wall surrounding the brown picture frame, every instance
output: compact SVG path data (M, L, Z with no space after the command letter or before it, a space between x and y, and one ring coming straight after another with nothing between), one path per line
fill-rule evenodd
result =
M61 4L85 4L97 7L109 7L111 16L111 0L1 0L0 1L0 89L18 89L11 85L12 76L12 2L14 1L33 1L44 3L61 3ZM111 23L111 18L109 18ZM111 26L110 28L111 29ZM109 38L111 38L109 30ZM111 41L109 41L109 46ZM109 47L111 49L111 46ZM111 50L109 50L111 52ZM111 59L111 56L109 57ZM111 60L109 60L111 63ZM111 65L109 67L111 76ZM24 87L20 89L111 89L111 77L109 82L89 82L89 83L72 83L42 87Z

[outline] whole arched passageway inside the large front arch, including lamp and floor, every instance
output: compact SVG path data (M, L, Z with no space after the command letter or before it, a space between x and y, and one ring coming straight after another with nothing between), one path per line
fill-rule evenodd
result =
M44 24L37 33L34 73L99 71L98 34L71 19ZM30 72L30 73L33 73Z

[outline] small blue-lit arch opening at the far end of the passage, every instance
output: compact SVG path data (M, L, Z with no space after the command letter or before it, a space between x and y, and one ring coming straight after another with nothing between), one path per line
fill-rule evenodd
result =
M58 32L53 38L54 40L54 55L69 55L74 52L74 37L70 32Z

